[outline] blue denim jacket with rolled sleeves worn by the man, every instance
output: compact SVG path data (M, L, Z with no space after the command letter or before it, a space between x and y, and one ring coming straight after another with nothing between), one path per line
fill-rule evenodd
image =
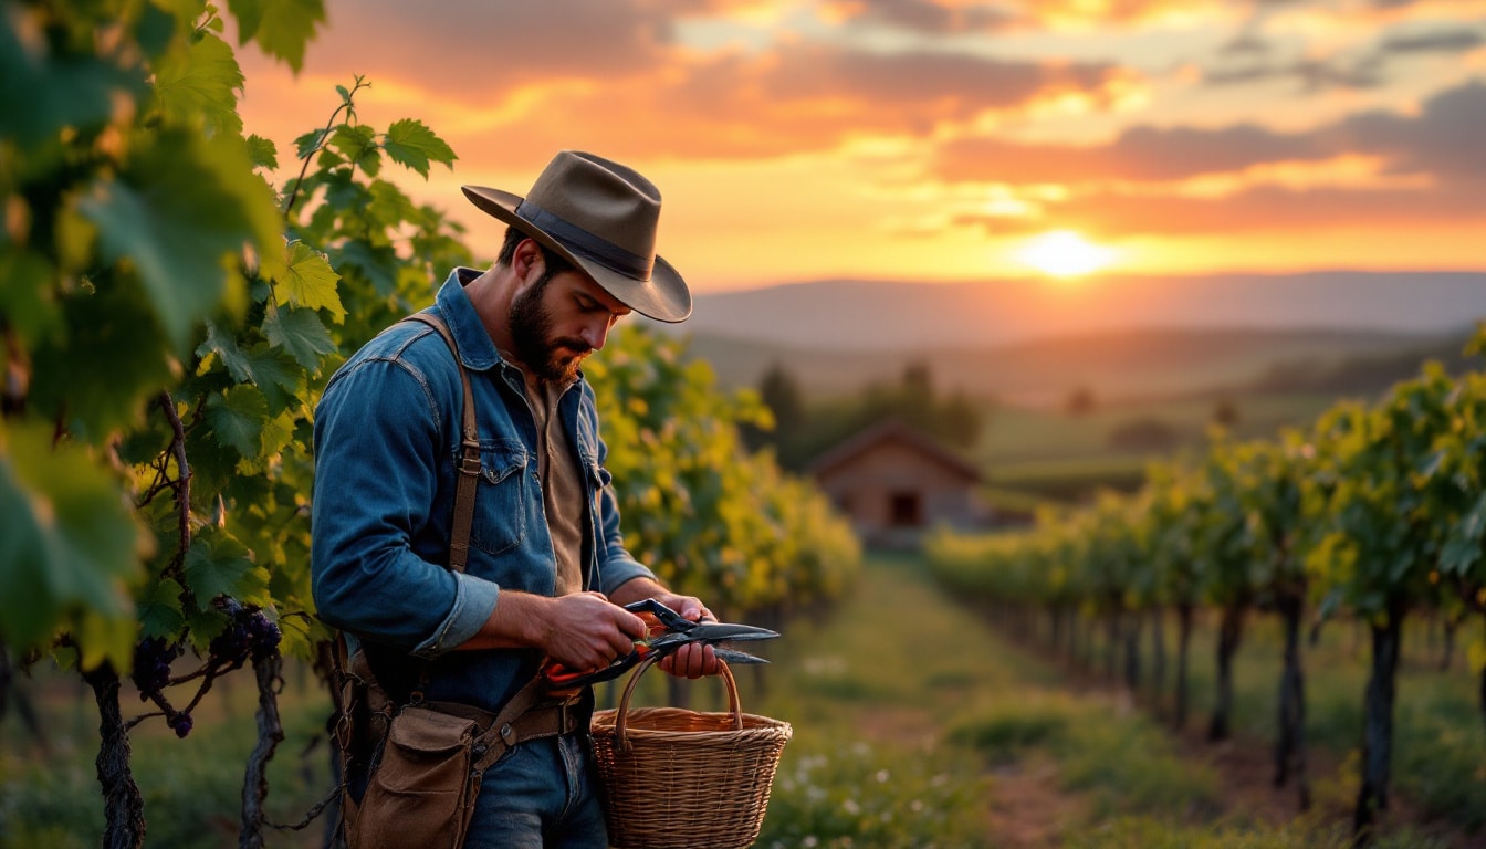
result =
M315 412L311 580L319 617L354 636L395 699L489 711L541 663L529 650L452 651L499 604L501 589L553 595L556 556L536 474L536 425L522 373L504 361L455 269L429 312L440 315L470 369L480 428L480 479L470 562L446 568L464 390L449 346L418 321L394 324L330 379ZM583 467L584 589L614 592L654 577L620 534L608 448L593 390L581 376L557 404Z

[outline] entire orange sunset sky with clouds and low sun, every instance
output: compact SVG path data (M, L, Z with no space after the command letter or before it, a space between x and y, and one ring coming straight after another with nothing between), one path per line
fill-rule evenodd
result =
M525 193L565 147L664 195L695 291L817 278L1486 268L1486 0L327 0L241 112L361 119ZM1040 269L1040 271L1039 271Z

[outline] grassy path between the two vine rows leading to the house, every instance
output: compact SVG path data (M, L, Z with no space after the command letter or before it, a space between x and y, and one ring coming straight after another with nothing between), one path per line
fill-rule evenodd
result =
M825 620L794 622L744 709L791 721L759 846L1346 845L1351 790L1294 816L1263 743L1204 746L1117 688L1065 675L872 558ZM1474 846L1404 830L1379 846Z

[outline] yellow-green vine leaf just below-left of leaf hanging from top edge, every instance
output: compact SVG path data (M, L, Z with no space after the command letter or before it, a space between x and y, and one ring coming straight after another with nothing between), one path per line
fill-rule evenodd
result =
M155 97L165 116L192 126L205 122L211 132L242 132L241 88L242 68L232 48L211 33L166 54L155 70Z

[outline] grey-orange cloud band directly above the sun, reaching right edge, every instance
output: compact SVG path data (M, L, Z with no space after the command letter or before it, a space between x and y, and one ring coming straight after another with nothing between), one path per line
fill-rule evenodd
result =
M941 150L938 168L950 181L1068 189L1043 202L1040 217L987 217L994 232L1049 222L1100 235L1416 225L1486 219L1483 137L1486 83L1471 82L1430 98L1416 116L1367 112L1293 134L1134 128L1092 147L960 140ZM1346 164L1345 180L1305 186L1299 175L1306 164L1336 171L1337 162ZM1358 174L1360 164L1373 178ZM1195 195L1204 175L1229 175L1230 184Z

